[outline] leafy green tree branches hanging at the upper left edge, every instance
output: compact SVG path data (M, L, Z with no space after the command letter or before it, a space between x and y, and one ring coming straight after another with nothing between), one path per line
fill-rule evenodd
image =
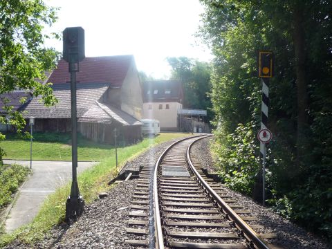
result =
M44 46L44 26L56 21L55 8L49 8L40 0L0 0L0 94L17 89L30 91L34 96L42 95L45 104L56 102L49 84L40 84L46 71L55 68L58 53ZM57 38L57 35L55 35ZM24 102L24 100L21 100ZM22 114L12 110L5 100L7 117L1 123L16 127L18 132L26 124ZM5 139L0 133L0 140ZM0 160L4 151L0 148Z

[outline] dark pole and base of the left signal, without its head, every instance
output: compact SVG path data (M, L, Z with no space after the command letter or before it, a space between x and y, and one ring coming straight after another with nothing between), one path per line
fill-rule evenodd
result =
M75 63L69 63L71 73L71 162L73 178L71 182L71 195L66 202L66 220L77 219L84 210L84 200L80 196L77 183L77 110L76 110L76 71Z

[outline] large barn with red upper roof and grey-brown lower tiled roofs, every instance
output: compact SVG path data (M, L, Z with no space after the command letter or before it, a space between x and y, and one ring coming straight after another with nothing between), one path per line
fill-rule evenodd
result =
M141 139L142 91L132 55L86 57L79 64L77 80L77 129L86 138L112 142ZM71 130L71 87L68 63L60 60L48 82L59 102L45 107L33 98L20 108L24 117L35 117L35 131Z

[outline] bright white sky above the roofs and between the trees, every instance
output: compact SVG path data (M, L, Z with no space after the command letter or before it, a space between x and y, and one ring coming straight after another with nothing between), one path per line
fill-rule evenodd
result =
M45 0L60 7L58 20L48 32L62 36L66 27L81 26L85 56L133 55L138 71L167 80L166 57L190 57L209 62L210 50L194 33L203 6L199 0ZM62 52L62 41L46 46Z

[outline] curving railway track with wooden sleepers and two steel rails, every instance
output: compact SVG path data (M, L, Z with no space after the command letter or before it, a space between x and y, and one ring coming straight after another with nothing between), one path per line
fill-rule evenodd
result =
M269 248L257 234L259 225L223 185L196 169L190 146L207 136L178 141L157 162L146 163L140 172L131 202L127 234L130 246L149 248Z

